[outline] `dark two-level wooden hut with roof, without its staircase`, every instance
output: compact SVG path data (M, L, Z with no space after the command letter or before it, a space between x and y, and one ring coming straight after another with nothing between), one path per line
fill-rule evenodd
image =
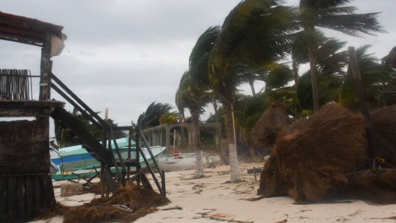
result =
M49 101L49 39L62 35L62 29L0 12L1 40L42 47L40 91L44 91L38 101L12 97L8 92L4 99L25 100L0 100L0 117L36 118L0 122L0 222L30 221L55 206L49 173L49 116L64 103Z

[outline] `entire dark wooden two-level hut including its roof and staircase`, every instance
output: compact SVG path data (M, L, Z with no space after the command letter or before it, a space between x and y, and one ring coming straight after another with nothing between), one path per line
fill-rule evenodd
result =
M107 182L111 192L118 189L114 178L122 184L128 178L137 180L138 183L142 182L144 186L152 189L140 168L139 155L135 160L130 159L130 156L129 159L123 159L115 141L113 130L129 131L131 140L133 127L112 128L52 73L50 57L53 55L51 51L53 49L51 48L51 40L53 38L61 39L63 36L62 29L62 26L37 19L0 12L0 40L42 48L40 76L37 76L40 77L39 100L11 100L13 98L7 95L3 96L7 100L0 100L0 117L36 118L33 121L0 122L1 223L27 222L55 207L55 197L49 173L49 117L52 117L64 129L70 131L83 147L101 162L101 179L102 182ZM63 108L63 102L50 101L51 89L58 92L60 96L103 131L102 144ZM146 142L143 135L142 139ZM119 159L114 158L111 140L114 141ZM104 146L106 142L109 144L109 149ZM139 146L137 150L141 152L140 154L146 161L158 190L165 195L163 172L158 169L162 178L161 186ZM116 174L111 173L111 167L115 167ZM130 169L129 167L137 167L137 170L127 172L127 169ZM126 177L130 174L135 174L135 176Z

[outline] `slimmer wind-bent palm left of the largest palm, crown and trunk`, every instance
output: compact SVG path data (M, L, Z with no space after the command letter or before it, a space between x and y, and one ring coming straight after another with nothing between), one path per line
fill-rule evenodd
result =
M200 151L199 114L211 100L207 63L219 32L219 26L209 27L198 38L189 58L189 70L184 73L178 90L181 92L181 99L189 108L193 120L194 147L197 157L196 177L204 176Z

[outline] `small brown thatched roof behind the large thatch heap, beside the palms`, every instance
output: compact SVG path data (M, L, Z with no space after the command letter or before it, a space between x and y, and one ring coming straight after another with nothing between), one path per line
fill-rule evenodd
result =
M271 104L258 119L250 133L253 145L272 147L282 129L292 124L285 106L275 102Z

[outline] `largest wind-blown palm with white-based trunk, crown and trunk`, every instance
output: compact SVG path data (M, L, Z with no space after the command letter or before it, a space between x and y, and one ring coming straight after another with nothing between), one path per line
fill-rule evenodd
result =
M225 112L231 181L240 180L233 103L241 66L259 68L285 56L295 30L294 9L280 0L243 0L226 17L209 59L209 77Z

